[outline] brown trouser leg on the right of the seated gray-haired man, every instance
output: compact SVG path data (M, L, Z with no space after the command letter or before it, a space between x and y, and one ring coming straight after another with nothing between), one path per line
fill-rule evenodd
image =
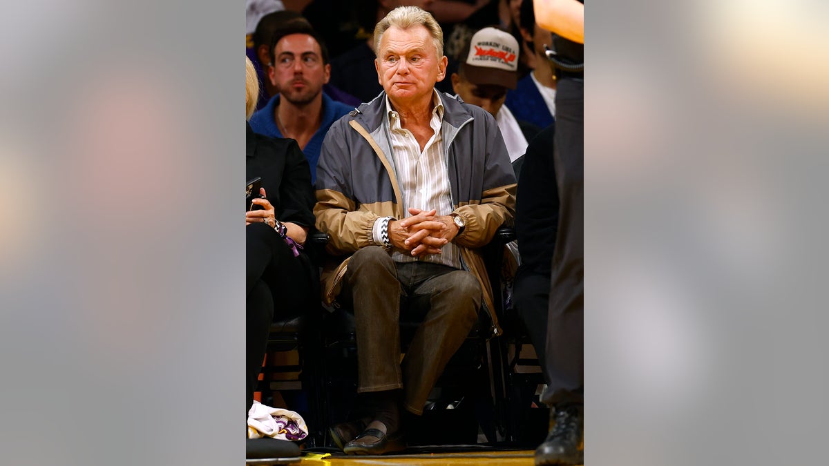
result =
M429 310L405 356L405 408L420 415L438 377L478 321L482 290L473 274L445 265L406 263L398 274L410 299L429 297Z

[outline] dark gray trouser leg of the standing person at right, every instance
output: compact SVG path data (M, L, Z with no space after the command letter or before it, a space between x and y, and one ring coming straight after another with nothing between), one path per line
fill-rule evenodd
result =
M547 404L584 401L584 82L560 80L555 95L559 229L550 279Z

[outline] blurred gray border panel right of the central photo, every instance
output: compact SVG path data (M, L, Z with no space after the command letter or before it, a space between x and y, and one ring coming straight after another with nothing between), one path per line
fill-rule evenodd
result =
M826 13L587 2L589 464L825 462Z

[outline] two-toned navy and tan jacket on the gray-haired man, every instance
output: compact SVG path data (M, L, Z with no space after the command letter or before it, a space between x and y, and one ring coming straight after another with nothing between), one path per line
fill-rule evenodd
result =
M479 248L492 240L499 226L512 225L515 174L492 115L450 95L439 95L444 104L441 134L453 213L466 225L453 242L461 250L463 269L481 284L495 336L501 328ZM318 230L331 236L327 251L332 255L351 255L376 245L372 228L378 217L406 217L388 135L385 93L361 104L328 130L317 167L314 215ZM336 298L346 267L347 260L343 260L336 269L323 270L328 303Z

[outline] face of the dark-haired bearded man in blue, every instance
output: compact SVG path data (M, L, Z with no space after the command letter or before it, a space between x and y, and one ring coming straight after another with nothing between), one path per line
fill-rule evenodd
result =
M310 103L331 77L331 65L322 65L322 50L312 36L284 36L274 50L270 82L284 100L294 105Z

